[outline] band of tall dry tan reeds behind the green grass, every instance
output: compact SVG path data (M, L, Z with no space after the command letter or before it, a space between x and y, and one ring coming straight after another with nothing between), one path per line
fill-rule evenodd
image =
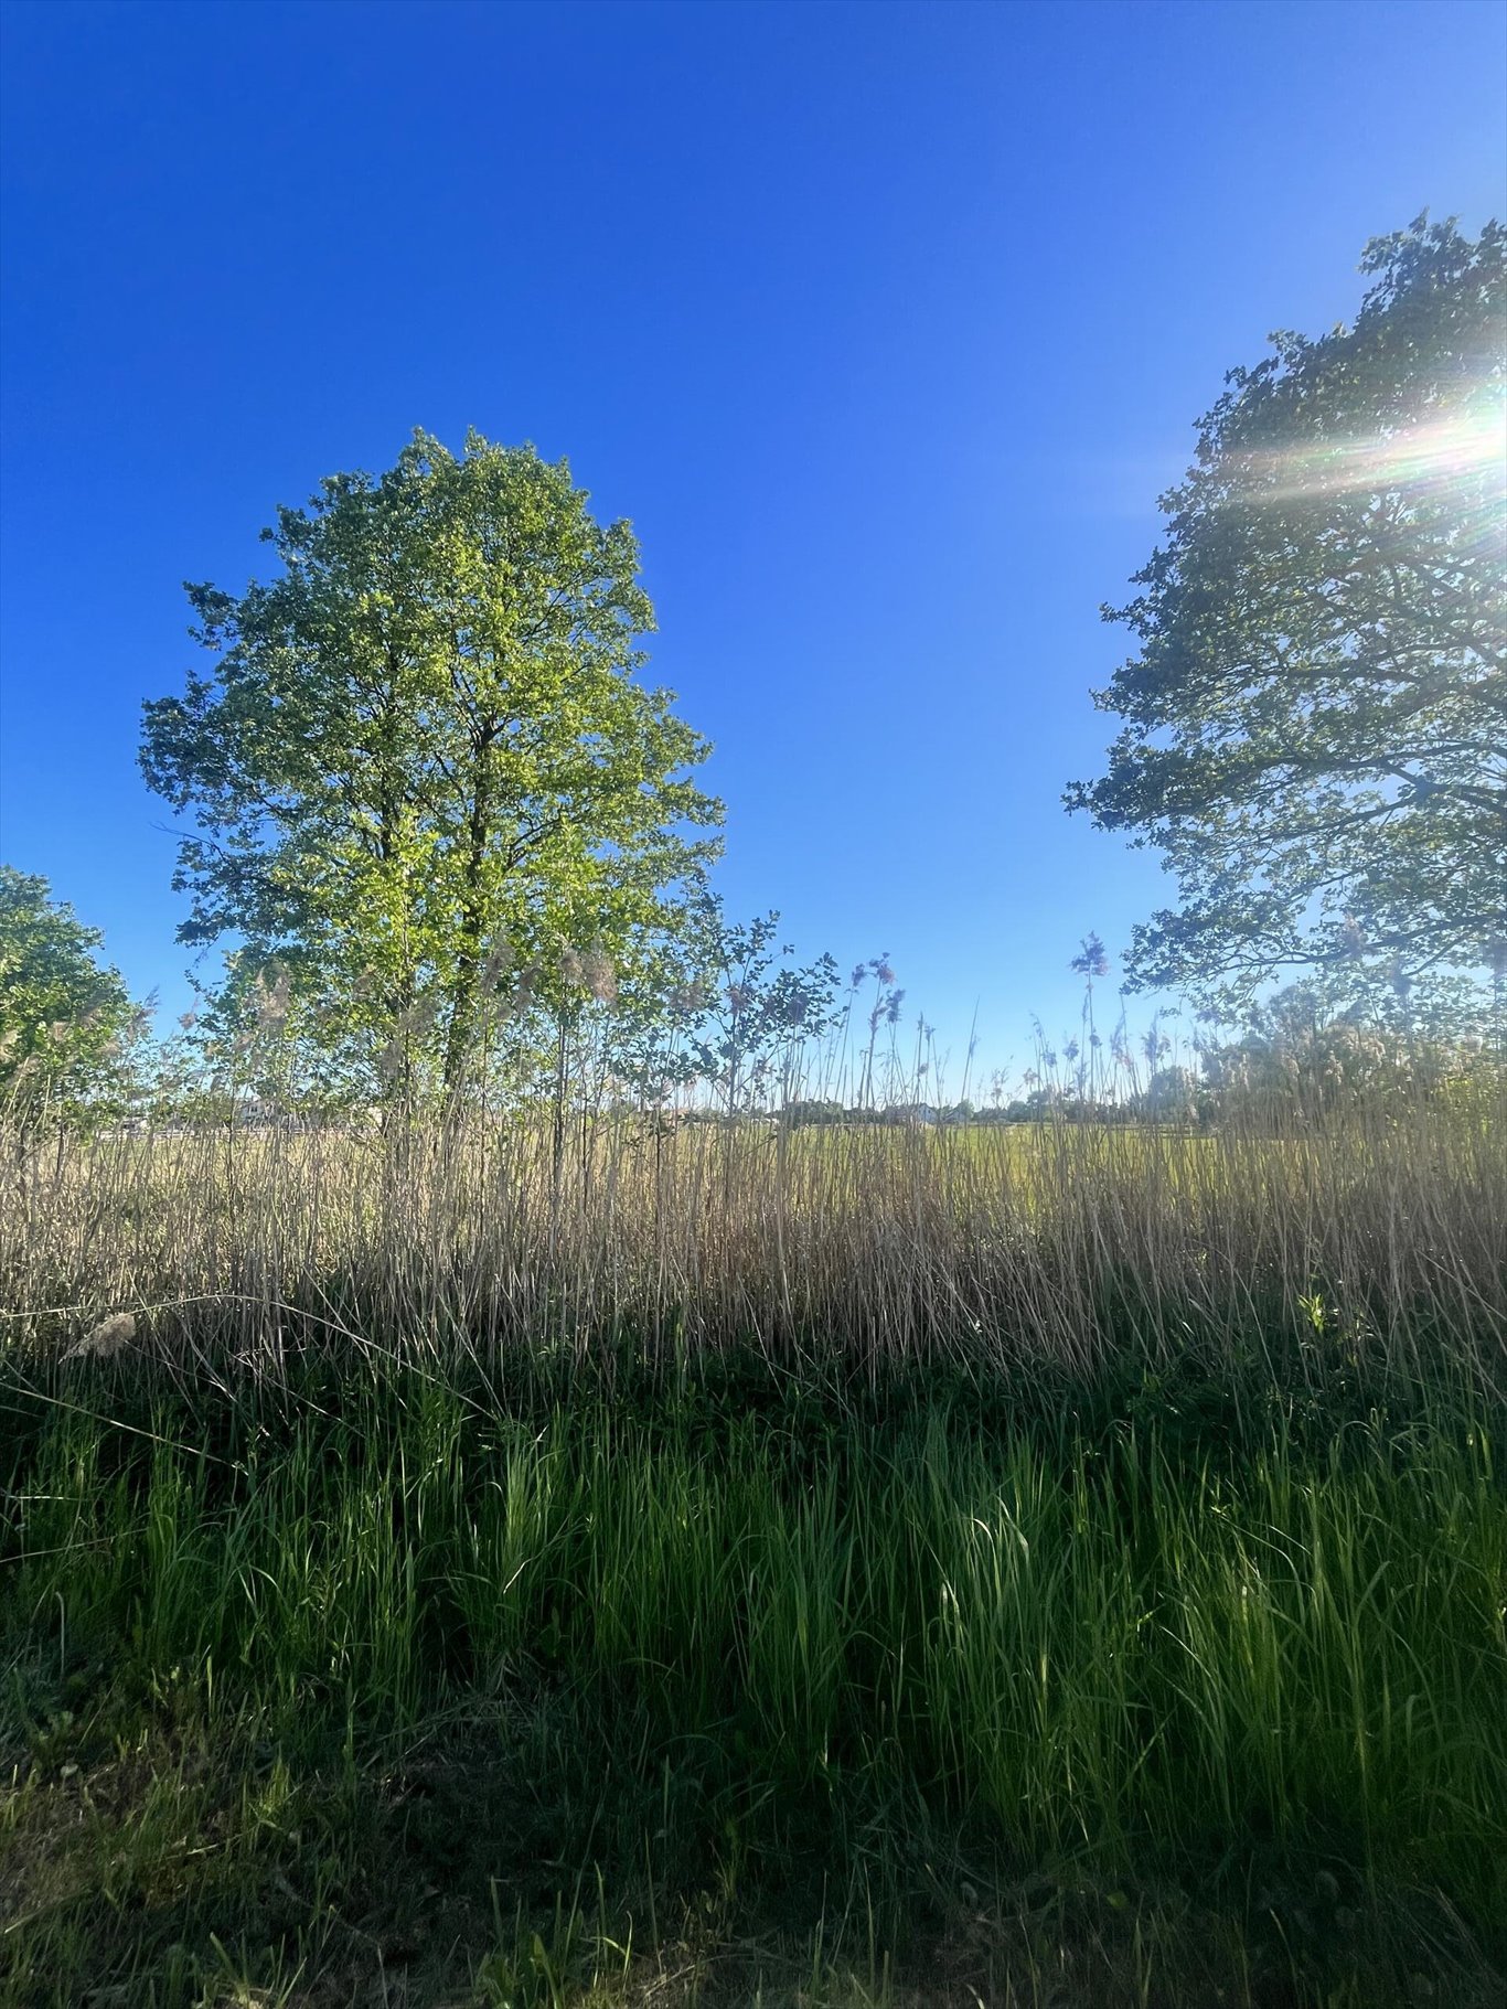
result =
M1218 1370L1314 1358L1489 1388L1507 1346L1501 1103L1226 1127L792 1129L599 1117L4 1143L0 1304L56 1354L131 1312L171 1358L631 1342L778 1362Z

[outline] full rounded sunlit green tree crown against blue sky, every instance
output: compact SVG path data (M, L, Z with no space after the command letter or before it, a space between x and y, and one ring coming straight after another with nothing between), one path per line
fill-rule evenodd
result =
M504 972L543 996L573 950L629 956L715 848L707 745L635 677L637 542L587 500L420 432L279 510L267 583L189 587L215 663L141 755L193 820L179 936L229 938L231 990L358 1077L456 1095Z

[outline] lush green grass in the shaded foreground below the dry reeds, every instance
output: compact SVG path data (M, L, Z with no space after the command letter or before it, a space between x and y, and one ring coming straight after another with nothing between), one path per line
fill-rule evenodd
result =
M1491 1999L1465 1406L133 1374L8 1396L18 1999Z

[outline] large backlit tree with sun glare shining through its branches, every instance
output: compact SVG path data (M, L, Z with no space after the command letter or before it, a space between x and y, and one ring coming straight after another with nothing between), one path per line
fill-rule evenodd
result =
M1163 852L1139 984L1250 994L1282 964L1411 982L1507 936L1507 237L1366 247L1352 325L1234 370L1161 498L1125 727L1067 802Z

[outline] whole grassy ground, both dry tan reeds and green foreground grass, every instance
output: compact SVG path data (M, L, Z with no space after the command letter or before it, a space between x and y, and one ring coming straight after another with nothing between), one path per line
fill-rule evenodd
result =
M1497 2003L1501 1117L12 1141L0 1997Z

